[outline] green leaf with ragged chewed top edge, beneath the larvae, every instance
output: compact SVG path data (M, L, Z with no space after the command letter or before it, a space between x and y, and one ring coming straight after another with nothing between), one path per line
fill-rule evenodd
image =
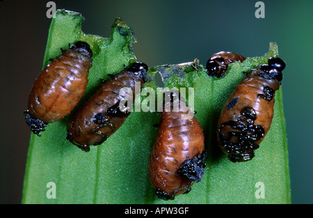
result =
M124 64L136 61L131 51L133 32L120 19L115 20L109 39L84 34L82 23L80 14L58 10L51 23L44 61L45 66L49 58L61 53L60 47L67 49L68 43L86 40L91 45L93 67L81 102L99 86L99 78L118 73ZM290 203L282 87L276 92L271 129L255 151L255 158L249 162L230 162L216 144L220 110L244 77L242 72L249 72L275 56L278 47L271 43L264 56L230 65L224 78L209 78L198 60L150 68L150 81L145 87L152 87L154 92L158 85L195 90L194 108L198 112L195 117L204 131L209 169L188 194L177 196L174 201L158 199L154 194L147 167L157 136L153 124L159 122L159 112L134 111L106 142L91 146L89 153L65 139L70 115L49 124L42 137L32 133L22 203ZM164 84L155 80L160 76ZM186 95L188 99L188 89ZM135 106L136 103L143 106L145 100L147 97L138 95ZM49 182L56 184L56 199L47 198ZM264 191L264 199L257 198L259 191Z

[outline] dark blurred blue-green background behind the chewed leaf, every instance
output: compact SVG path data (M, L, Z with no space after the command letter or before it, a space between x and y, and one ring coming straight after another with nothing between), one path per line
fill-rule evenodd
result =
M0 1L0 203L21 203L30 130L22 112L41 72L51 19L48 1ZM115 17L136 34L138 60L155 65L207 58L218 51L263 56L277 42L287 62L282 88L291 202L313 203L313 1L264 0L265 18L247 1L54 1L81 12L83 31L109 37Z

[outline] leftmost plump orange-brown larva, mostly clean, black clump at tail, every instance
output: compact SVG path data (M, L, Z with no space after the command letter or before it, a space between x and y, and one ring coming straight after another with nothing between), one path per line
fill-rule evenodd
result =
M86 91L92 56L89 44L79 41L42 70L31 88L28 110L24 112L33 133L40 135L44 126L62 119L77 106ZM36 127L40 122L44 125Z

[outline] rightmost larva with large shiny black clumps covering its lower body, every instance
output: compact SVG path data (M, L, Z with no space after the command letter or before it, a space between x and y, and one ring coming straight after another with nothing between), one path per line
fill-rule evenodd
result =
M251 160L273 119L275 91L285 64L270 58L243 78L227 101L218 121L218 144L232 162Z

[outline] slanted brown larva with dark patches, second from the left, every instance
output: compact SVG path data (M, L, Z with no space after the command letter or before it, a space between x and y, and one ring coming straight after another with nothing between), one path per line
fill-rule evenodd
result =
M103 81L93 97L72 115L67 126L67 139L83 151L89 151L90 145L102 144L115 133L129 115L127 111L120 111L120 101L127 98L127 95L120 96L120 90L131 89L134 101L135 83L143 87L147 69L144 63L135 62L112 76L110 81Z

